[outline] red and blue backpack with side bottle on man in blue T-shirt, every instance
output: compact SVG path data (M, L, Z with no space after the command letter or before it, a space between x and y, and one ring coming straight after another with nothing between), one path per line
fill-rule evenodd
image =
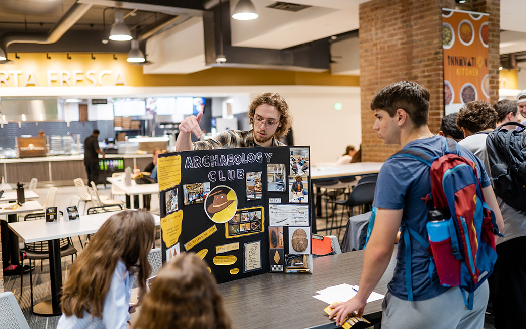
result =
M431 242L402 222L406 243L406 287L408 300L413 300L410 235L430 253L429 275L437 270L440 284L459 286L464 303L473 308L474 291L489 277L497 260L494 235L500 235L495 215L485 204L476 165L459 155L457 142L448 139L444 155L431 156L418 149L405 148L392 157L407 156L430 167L431 193L427 202L444 216L449 237ZM430 222L431 223L431 222ZM428 233L429 223L428 223ZM443 226L444 227L444 226ZM466 298L467 292L469 298Z

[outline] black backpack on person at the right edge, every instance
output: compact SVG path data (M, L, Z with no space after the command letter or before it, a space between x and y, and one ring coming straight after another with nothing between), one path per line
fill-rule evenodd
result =
M506 130L503 126L520 126ZM489 133L486 148L491 165L493 191L507 205L526 211L526 126L508 122Z

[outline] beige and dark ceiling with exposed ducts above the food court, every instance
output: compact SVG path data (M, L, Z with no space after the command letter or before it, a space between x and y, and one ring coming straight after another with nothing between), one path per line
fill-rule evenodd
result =
M229 58L226 66L320 72L328 69L331 60L329 44L339 41L329 37L341 35L345 39L345 33L357 30L358 7L366 1L294 0L306 8L287 11L268 7L276 2L273 0L252 0L259 17L237 21L229 15L237 0L222 0L224 21L219 29L219 0L1 0L0 46L8 40L9 53L127 53L129 42L102 43L115 12L120 11L132 34L141 41L148 61L153 63L144 66L145 73L200 71L216 65L215 55L221 50ZM501 33L501 54L526 51L522 14L526 12L526 1L500 3L500 24L505 30ZM63 19L74 6L82 6L84 13ZM55 31L61 19L66 21L62 22L64 31ZM218 41L220 31L224 49ZM57 42L48 43L60 32L63 36ZM39 44L31 43L36 37ZM357 56L357 50L352 56ZM346 72L356 74L352 69Z

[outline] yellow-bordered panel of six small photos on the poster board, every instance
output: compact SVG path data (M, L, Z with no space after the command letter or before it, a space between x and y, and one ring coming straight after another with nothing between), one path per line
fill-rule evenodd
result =
M243 208L225 223L225 237L235 238L264 231L263 207Z

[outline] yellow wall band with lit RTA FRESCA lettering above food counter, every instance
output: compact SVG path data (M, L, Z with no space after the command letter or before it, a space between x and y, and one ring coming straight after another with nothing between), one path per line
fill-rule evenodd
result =
M126 62L127 54L9 54L12 64L0 64L1 87L58 86L221 86L325 85L359 86L358 76L332 76L269 69L213 67L193 74L143 75L139 65Z

